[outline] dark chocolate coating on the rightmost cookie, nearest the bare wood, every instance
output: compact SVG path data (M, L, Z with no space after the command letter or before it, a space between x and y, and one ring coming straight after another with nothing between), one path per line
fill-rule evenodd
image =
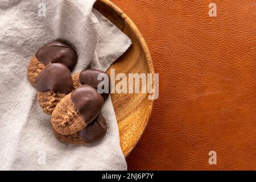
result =
M101 77L101 80L98 80L99 75ZM104 91L104 93L101 93L101 96L104 98L104 100L109 96L110 89L111 89L111 82L110 82L110 77L107 73L102 72L98 69L86 69L85 71L82 71L80 73L79 79L82 84L90 85L96 90L100 82L104 81L104 85L102 86L102 89L105 90L105 86L106 86L107 92Z

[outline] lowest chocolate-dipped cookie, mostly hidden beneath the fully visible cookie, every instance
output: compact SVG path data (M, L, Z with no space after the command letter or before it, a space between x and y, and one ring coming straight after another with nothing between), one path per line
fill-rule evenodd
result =
M102 139L107 131L106 120L102 114L89 125L84 127L81 131L78 131L72 135L61 135L52 129L53 134L61 142L73 143L73 144L85 144L85 143L94 143Z

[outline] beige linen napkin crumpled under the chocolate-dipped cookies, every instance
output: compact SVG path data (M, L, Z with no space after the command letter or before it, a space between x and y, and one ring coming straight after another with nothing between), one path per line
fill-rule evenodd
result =
M26 76L31 57L55 39L76 48L74 73L88 65L106 71L126 51L131 40L93 9L94 1L0 0L0 169L127 169L111 98L102 109L104 139L83 146L60 143Z

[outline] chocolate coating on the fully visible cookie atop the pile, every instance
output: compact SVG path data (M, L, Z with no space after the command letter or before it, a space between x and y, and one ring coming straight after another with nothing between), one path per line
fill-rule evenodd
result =
M79 86L72 92L71 100L86 124L97 118L103 106L103 97L89 85Z

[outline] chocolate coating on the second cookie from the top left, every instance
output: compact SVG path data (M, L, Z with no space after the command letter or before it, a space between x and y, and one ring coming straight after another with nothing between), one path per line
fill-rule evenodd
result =
M73 89L71 72L64 64L48 64L36 77L35 86L41 92L55 91L68 94Z

